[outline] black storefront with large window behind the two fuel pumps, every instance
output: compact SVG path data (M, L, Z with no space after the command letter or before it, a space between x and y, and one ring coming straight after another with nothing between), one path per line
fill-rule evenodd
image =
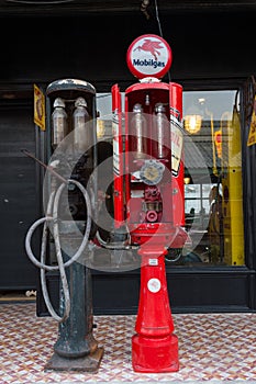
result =
M241 4L221 11L194 5L171 11L159 4L158 11L164 38L174 54L169 77L163 81L170 79L183 87L185 214L192 240L166 257L171 308L252 312L256 308L256 138L252 124L256 9ZM142 34L159 34L153 4L148 12L149 19L140 7L90 18L75 9L71 15L48 11L23 16L20 33L8 35L0 74L1 214L5 217L0 290L37 287L40 292L38 271L26 258L24 237L42 215L42 169L21 153L26 148L45 159L45 133L33 122L33 84L45 90L62 78L92 83L103 129L99 142L111 144L111 87L119 83L123 94L137 81L126 67L126 49ZM9 14L7 20L14 29L19 15ZM1 33L5 33L4 22ZM34 45L32 36L38 44ZM99 268L92 274L96 313L136 313L138 268L122 272ZM51 274L48 283L57 301L57 276ZM45 313L40 294L37 308L41 315Z

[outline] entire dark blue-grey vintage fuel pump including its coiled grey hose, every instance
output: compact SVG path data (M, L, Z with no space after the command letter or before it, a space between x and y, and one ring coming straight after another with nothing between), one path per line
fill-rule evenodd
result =
M93 337L88 244L96 229L96 90L84 80L63 79L46 89L47 171L44 174L45 217L26 236L26 251L41 269L41 286L49 314L58 321L58 339L46 369L97 372L103 354ZM31 239L44 223L41 260ZM59 306L47 291L47 273L59 273Z

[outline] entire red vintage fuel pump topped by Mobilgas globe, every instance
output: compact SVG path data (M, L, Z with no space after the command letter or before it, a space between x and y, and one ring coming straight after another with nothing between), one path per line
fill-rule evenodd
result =
M164 38L142 35L127 50L127 66L140 81L125 90L124 113L119 86L112 87L115 229L126 227L141 256L132 337L132 364L137 372L179 369L165 256L181 249L188 235L183 229L182 87L160 81L171 59Z

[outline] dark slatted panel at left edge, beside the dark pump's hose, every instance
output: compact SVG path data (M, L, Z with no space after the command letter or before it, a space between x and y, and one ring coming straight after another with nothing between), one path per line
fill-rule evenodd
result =
M36 268L24 247L26 231L38 218L36 168L21 151L35 150L32 111L31 104L0 106L0 290L36 284Z

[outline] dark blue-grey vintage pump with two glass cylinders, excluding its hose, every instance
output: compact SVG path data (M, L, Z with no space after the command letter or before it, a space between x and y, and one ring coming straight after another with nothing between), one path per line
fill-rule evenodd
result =
M87 267L91 251L87 244L81 248L85 237L89 241L94 236L93 222L89 216L96 218L97 215L97 177L92 174L97 163L96 90L86 81L67 79L51 83L46 93L52 117L51 161L56 162L55 158L59 160L55 168L64 178L75 181L68 183L66 200L58 207L64 259L69 260L80 250L80 257L67 269L70 316L59 325L59 338L47 368L71 365L73 369L96 372L103 349L98 348L92 334L92 287L90 269ZM57 180L52 177L49 189L55 189L56 183ZM87 201L79 185L86 189ZM64 305L62 292L63 286L60 310ZM73 358L71 361L78 359L80 366L67 358Z

